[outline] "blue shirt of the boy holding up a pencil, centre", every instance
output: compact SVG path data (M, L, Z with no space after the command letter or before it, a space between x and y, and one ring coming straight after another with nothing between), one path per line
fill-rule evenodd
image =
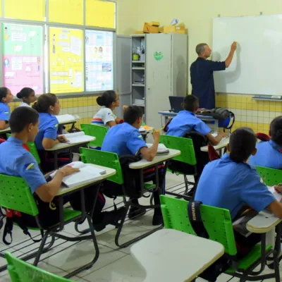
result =
M116 153L118 156L136 155L142 147L147 147L137 128L129 123L113 126L103 141L102 151Z

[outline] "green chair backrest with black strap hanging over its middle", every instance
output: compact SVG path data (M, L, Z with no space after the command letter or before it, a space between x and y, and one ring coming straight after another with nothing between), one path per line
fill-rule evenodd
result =
M188 218L188 202L161 195L161 212L164 226L196 235ZM204 227L209 240L221 243L228 255L236 255L237 249L233 233L231 215L228 209L219 209L202 204L200 207Z

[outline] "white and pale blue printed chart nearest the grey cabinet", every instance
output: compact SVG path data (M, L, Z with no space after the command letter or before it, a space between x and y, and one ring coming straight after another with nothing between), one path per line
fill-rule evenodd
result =
M85 30L86 91L113 90L113 32Z

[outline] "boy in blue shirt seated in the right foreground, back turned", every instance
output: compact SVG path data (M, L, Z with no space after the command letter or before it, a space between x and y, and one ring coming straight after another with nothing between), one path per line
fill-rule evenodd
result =
M255 155L257 137L250 128L238 128L230 137L228 152L221 159L204 167L195 194L195 200L213 207L228 209L231 218L240 215L247 204L257 212L269 207L282 218L282 204L269 192L255 167L247 164L250 155ZM243 250L250 250L260 240L255 234L245 238L234 232L236 243ZM239 250L238 250L239 251Z

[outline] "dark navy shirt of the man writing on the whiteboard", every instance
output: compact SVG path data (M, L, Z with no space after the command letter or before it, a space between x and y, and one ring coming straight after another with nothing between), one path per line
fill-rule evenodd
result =
M214 109L214 71L224 71L225 62L214 62L198 58L190 66L192 94L198 97L200 108Z

